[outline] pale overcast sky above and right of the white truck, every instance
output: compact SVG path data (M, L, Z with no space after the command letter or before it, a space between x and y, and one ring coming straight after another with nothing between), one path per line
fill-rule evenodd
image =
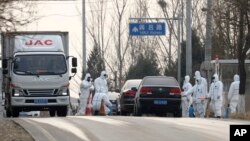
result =
M86 15L90 16L90 4L96 3L99 0L86 0ZM112 4L112 0L104 0L108 4ZM157 4L155 0L149 0L150 4ZM78 96L79 83L81 78L82 68L82 0L76 1L39 1L35 2L37 8L37 17L39 20L25 26L23 31L68 31L70 55L78 58L78 73L71 80L71 93ZM128 0L128 8L133 7L135 1ZM152 5L151 4L151 5ZM109 12L112 12L112 6L108 6ZM87 24L89 24L87 18ZM87 35L87 55L92 50L90 39Z

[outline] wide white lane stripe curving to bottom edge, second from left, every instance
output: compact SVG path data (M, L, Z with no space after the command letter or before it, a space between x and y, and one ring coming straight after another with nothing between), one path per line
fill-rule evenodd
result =
M90 139L82 130L80 130L75 125L68 123L66 120L62 120L59 118L32 118L30 120L40 122L40 123L50 124L54 127L71 132L75 134L76 136L78 136L79 138L83 139L84 141L90 141Z

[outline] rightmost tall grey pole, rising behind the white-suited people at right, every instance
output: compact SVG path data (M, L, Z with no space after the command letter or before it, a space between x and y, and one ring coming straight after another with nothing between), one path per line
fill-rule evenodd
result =
M211 44L212 44L212 0L207 0L207 8L204 8L203 11L207 12L206 19L206 41L205 41L205 70L207 72L207 80L211 82Z

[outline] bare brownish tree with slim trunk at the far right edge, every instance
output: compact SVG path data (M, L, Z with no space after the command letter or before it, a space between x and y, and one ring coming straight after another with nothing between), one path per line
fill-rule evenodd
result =
M240 112L245 112L245 60L250 49L250 1L249 0L222 0L216 9L219 15L215 19L216 33L225 43L224 50L230 58L239 61L240 74Z

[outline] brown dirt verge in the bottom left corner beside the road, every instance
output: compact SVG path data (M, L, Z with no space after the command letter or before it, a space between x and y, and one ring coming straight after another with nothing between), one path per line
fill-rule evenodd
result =
M0 140L35 141L23 127L7 118L0 118Z

